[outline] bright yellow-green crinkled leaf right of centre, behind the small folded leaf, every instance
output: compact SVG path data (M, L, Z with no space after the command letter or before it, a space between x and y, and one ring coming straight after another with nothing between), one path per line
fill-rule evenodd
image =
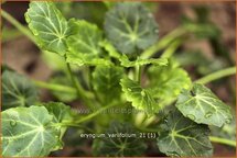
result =
M191 87L187 72L177 67L172 60L165 67L151 66L148 75L148 89L162 108L174 101L182 89Z

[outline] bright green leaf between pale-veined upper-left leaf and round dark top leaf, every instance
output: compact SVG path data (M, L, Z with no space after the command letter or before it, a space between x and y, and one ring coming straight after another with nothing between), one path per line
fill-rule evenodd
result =
M67 40L67 61L82 65L110 65L109 60L99 58L101 48L99 42L103 40L100 30L86 21L74 21L72 27L76 34Z

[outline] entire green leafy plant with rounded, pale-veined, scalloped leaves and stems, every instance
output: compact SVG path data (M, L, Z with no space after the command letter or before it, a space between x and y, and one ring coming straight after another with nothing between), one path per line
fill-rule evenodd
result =
M94 139L95 156L141 156L149 140L146 132L159 135L155 144L168 156L211 156L211 140L236 146L233 140L209 136L208 125L229 124L233 115L204 86L235 74L235 67L192 82L172 57L180 44L176 37L205 33L205 27L179 27L158 40L158 24L140 2L109 8L104 32L85 20L66 20L53 2L30 3L25 19L33 35L7 12L2 11L2 16L42 52L58 55L65 64L63 74L50 82L2 69L3 156L47 156L63 148L68 127L91 136L108 134ZM160 58L152 57L170 45ZM41 102L35 87L52 90L62 102ZM63 103L77 99L89 114L78 114ZM115 108L125 109L125 113L109 112ZM133 136L119 137L120 133Z

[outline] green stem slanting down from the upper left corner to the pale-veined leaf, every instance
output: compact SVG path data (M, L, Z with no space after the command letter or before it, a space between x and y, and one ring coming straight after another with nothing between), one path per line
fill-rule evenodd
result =
M1 10L1 15L3 19L9 21L13 26L15 26L20 32L22 32L25 36L28 36L36 45L36 41L34 38L33 34L25 26L23 26L19 21L17 21L12 15L10 15L4 10Z

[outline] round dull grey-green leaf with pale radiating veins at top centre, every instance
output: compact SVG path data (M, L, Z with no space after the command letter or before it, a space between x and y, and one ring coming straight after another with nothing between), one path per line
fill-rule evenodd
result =
M158 41L153 15L140 2L119 2L106 14L107 38L123 54L144 50Z

